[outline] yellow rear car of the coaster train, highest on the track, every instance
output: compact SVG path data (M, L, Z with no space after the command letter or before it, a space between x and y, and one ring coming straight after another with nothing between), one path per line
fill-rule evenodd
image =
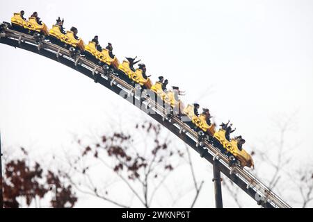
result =
M38 24L34 17L30 17L29 21L26 21L22 19L20 13L14 13L13 17L11 18L11 22L13 25L20 26L29 31L42 33L43 35L49 35L49 30L45 23L42 22L41 25Z

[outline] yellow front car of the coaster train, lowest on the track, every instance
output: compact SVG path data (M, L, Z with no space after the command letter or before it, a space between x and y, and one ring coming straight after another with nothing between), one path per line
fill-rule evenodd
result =
M231 139L230 142L225 137L225 130L220 129L214 133L214 138L218 139L218 142L223 145L228 153L231 153L240 162L241 167L254 167L254 162L250 154L248 154L243 148L238 148L238 141Z

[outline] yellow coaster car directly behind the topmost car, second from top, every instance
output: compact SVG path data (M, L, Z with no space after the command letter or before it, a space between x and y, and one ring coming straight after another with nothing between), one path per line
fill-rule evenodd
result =
M80 49L81 51L85 50L83 40L79 38L79 40L75 39L74 33L71 31L67 31L66 34L61 33L59 26L52 26L52 28L49 31L49 35L52 37L55 37L56 39L60 40L61 42L64 42L67 46L74 46L75 48Z

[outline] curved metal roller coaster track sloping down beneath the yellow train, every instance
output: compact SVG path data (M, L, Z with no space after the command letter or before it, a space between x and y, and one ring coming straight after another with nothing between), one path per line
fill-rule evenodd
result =
M204 142L200 146L197 133L177 117L168 117L163 106L159 105L159 103L145 95L143 95L143 101L140 96L136 96L134 93L136 90L132 85L129 85L114 74L105 74L102 67L95 65L95 63L90 62L83 56L75 56L73 58L70 51L61 46L46 41L38 42L31 35L10 29L4 29L0 33L0 43L38 53L41 56L60 62L92 78L96 83L104 85L116 94L123 95L122 98L127 99L127 101L136 105L137 108L140 108L161 125L168 128L188 146L197 151L205 160L211 164L215 162L218 169L245 191L246 194L256 200L258 205L266 208L290 208L282 198L266 187L263 182L248 170L236 166L230 167L228 158L220 153L218 148L208 142ZM154 112L149 112L149 110L154 110Z

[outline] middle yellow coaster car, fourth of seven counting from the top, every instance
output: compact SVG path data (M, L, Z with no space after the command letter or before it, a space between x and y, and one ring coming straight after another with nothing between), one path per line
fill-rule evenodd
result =
M152 82L150 78L143 78L143 71L141 69L136 69L136 71L131 70L129 67L129 61L123 60L123 62L118 66L118 69L125 73L128 78L133 80L135 83L145 85L147 89L151 88Z

